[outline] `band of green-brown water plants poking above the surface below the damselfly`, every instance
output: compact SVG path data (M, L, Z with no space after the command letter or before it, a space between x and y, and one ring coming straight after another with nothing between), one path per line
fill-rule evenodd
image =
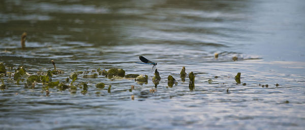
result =
M53 74L54 75L60 75L63 74L64 71L56 69L55 62L51 60L52 65L54 66L53 70L48 70L47 72L38 71L37 74L29 74L26 72L26 69L23 66L19 66L17 69L15 69L15 72L8 72L6 69L6 66L4 63L0 63L0 78L1 78L1 84L0 89L5 90L8 89L8 85L5 84L4 78L2 77L11 77L13 76L13 79L16 81L16 84L19 85L20 82L26 81L24 83L25 88L34 89L37 83L42 84L42 90L46 92L46 96L49 96L49 89L58 89L58 91L65 91L69 90L71 94L77 93L77 90L81 90L81 94L85 95L88 92L88 85L86 82L80 82L76 85L73 83L79 78L80 74L83 74L82 79L86 78L98 78L99 75L103 75L105 78L109 78L111 80L113 79L120 79L120 78L134 78L134 80L139 84L147 84L148 83L148 75L144 74L125 74L125 70L119 69L119 68L111 68L108 71L105 69L101 70L100 68L97 70L92 71L75 71L72 72L69 77L67 77L63 82L60 80L52 81ZM92 73L92 74L89 74ZM237 73L235 76L235 81L237 84L240 82L240 72ZM189 76L189 89L190 91L195 90L195 74L194 72L190 72L189 74L186 73L186 67L183 66L179 76L181 78L181 81L184 82L186 76ZM116 77L116 78L115 78ZM120 78L118 78L120 77ZM218 76L215 76L214 78L218 78ZM71 79L71 80L70 80ZM161 76L158 71L158 69L155 70L154 76L151 78L153 83L155 84L156 89L150 89L150 93L156 93L157 92L157 85L161 81ZM71 81L69 83L69 81ZM212 79L208 79L207 81L209 84L214 82ZM65 83L69 83L68 85ZM168 87L172 88L173 84L177 85L178 81L172 76L169 75L167 78ZM100 82L97 83L95 86L97 89L104 89L105 83ZM242 83L242 85L247 85L246 83ZM276 86L279 86L279 84L275 84ZM261 86L259 84L259 86ZM79 89L78 89L79 88ZM262 85L262 88L268 88L268 84ZM109 84L108 87L108 93L111 93L111 84ZM134 90L134 85L131 86L131 89L129 89L129 92L132 92ZM226 91L229 93L229 89Z

